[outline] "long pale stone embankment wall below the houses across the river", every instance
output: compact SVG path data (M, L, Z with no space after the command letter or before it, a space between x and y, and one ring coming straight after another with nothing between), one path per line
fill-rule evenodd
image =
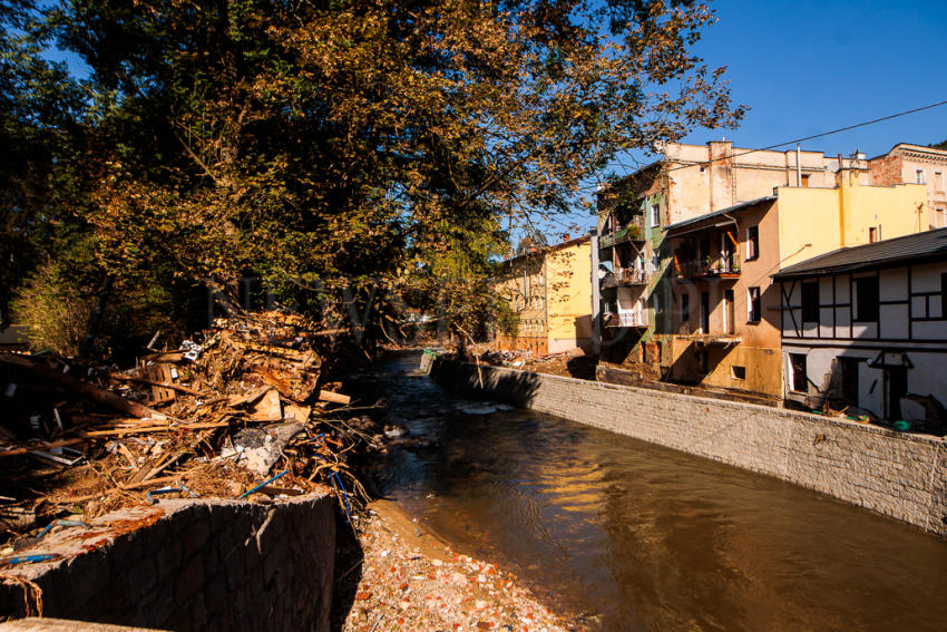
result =
M465 364L426 353L421 369L486 395L816 489L947 536L947 446L753 403Z

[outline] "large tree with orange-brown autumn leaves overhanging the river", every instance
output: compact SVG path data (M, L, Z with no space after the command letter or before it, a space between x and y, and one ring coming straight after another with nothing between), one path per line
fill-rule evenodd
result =
M92 69L102 262L231 292L247 270L482 274L502 220L570 210L616 153L743 113L689 52L713 20L690 0L71 0L52 19Z

